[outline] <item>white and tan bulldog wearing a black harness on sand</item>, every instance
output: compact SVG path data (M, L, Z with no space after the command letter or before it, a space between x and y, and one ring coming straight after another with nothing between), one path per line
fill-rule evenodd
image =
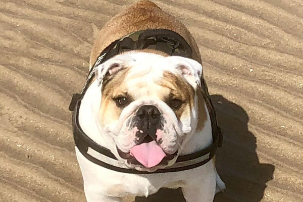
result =
M147 197L162 187L181 187L187 202L213 201L225 189L202 78L189 31L151 2L100 30L73 123L88 202Z

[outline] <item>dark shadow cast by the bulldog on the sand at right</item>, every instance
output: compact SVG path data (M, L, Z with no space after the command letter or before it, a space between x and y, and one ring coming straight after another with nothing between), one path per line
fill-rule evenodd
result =
M218 149L216 167L226 190L215 196L215 202L251 201L263 198L266 182L271 180L275 166L260 164L256 153L256 137L248 131L248 116L240 106L221 95L211 95L218 123L224 136ZM136 202L184 202L181 189L160 189Z

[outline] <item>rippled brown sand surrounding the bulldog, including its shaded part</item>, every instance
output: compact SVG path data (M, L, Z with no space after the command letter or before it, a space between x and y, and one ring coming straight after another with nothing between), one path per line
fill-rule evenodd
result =
M136 1L0 2L0 201L85 201L69 102L98 28ZM303 2L154 2L203 58L224 133L215 201L303 201Z

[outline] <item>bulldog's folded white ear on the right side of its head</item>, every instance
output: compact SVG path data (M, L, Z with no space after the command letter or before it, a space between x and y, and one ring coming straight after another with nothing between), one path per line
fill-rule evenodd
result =
M174 69L178 71L195 90L201 87L200 78L203 68L200 63L180 56L171 56L169 58L174 64Z

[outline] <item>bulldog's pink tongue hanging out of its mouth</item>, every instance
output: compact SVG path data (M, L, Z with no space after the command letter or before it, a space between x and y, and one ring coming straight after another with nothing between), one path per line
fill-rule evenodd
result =
M146 168L151 168L160 164L166 154L155 141L142 143L130 149L130 155L133 156Z

